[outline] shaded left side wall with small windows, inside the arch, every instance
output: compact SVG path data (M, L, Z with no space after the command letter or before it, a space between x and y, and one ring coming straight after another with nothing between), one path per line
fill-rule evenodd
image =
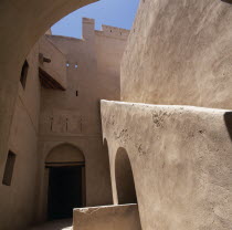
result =
M34 219L40 115L38 56L36 44L27 58L29 71L25 88L18 83L9 143L9 149L15 154L15 163L11 185L0 184L0 230L24 229Z

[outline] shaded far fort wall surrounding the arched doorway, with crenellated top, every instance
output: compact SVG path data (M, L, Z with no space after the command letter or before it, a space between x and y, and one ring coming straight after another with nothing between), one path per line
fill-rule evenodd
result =
M108 154L102 142L99 101L120 97L119 67L127 41L127 36L99 35L92 19L83 19L83 39L46 38L65 55L67 85L65 91L41 88L38 218L43 220L46 217L44 197L48 196L44 160L48 153L62 143L78 147L85 156L86 206L113 203Z

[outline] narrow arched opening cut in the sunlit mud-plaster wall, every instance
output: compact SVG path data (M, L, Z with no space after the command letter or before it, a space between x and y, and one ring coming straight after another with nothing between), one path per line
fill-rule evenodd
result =
M124 148L119 148L116 154L115 179L118 205L137 203L133 169Z

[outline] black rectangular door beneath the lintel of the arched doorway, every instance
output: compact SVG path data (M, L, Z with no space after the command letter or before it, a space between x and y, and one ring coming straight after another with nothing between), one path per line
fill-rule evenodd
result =
M83 205L83 167L50 167L49 219L71 218Z

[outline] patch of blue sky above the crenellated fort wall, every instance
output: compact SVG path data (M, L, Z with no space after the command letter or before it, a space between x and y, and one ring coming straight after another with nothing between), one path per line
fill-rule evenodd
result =
M95 19L96 30L102 24L130 29L139 0L101 0L66 15L52 27L54 35L82 36L82 18Z

